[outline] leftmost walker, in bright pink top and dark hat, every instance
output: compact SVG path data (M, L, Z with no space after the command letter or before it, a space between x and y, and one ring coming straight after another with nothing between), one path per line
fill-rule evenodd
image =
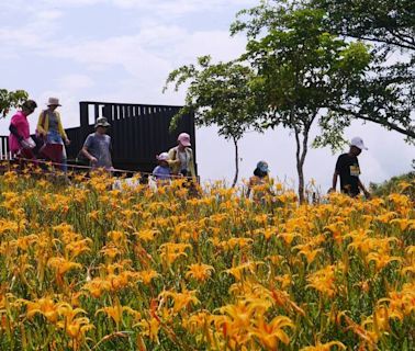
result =
M22 110L12 116L9 126L9 148L12 156L18 156L19 154L22 154L23 150L26 150L27 155L24 156L29 158L33 157L31 150L35 147L35 145L31 138L27 116L31 115L36 107L37 104L35 101L27 100L23 103Z

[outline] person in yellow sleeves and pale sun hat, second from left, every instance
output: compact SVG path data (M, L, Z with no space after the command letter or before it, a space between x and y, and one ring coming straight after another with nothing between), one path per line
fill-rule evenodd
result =
M67 171L67 157L65 145L69 145L70 140L61 125L60 114L56 109L61 106L59 99L49 98L47 109L42 111L37 122L37 134L43 137L46 144L61 145L61 170Z

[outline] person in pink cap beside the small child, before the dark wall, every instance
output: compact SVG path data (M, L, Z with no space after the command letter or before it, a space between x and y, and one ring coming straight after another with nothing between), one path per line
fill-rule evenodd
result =
M191 149L190 136L181 133L177 138L178 145L168 152L169 166L172 174L181 174L195 179L193 150Z

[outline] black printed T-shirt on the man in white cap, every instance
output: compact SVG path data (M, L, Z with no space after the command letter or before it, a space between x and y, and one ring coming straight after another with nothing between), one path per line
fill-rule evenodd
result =
M344 193L357 196L359 190L360 167L356 156L343 154L338 157L336 172L340 176L340 189Z

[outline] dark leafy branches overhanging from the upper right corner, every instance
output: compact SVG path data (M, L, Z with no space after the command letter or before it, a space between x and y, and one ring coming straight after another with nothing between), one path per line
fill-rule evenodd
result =
M373 43L372 75L357 99L338 112L346 118L380 124L415 141L415 11L412 0L310 0L325 11L330 33ZM399 59L389 63L391 54ZM399 56L405 54L404 56Z

